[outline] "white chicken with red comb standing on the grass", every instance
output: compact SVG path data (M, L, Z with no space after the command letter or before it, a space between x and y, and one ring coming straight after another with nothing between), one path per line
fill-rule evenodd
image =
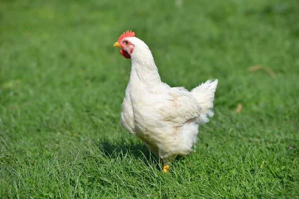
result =
M213 101L218 80L187 91L161 82L149 47L124 32L114 44L131 58L131 74L122 103L121 125L139 137L160 158L163 171L177 155L187 155L197 141L198 125L213 116Z

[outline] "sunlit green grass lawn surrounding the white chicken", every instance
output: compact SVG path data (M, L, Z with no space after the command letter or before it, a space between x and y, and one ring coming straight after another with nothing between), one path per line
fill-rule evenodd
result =
M297 0L0 1L0 198L299 198L298 10ZM130 61L113 44L127 29L170 86L219 79L196 151L167 174L119 125ZM248 72L257 64L276 78Z

